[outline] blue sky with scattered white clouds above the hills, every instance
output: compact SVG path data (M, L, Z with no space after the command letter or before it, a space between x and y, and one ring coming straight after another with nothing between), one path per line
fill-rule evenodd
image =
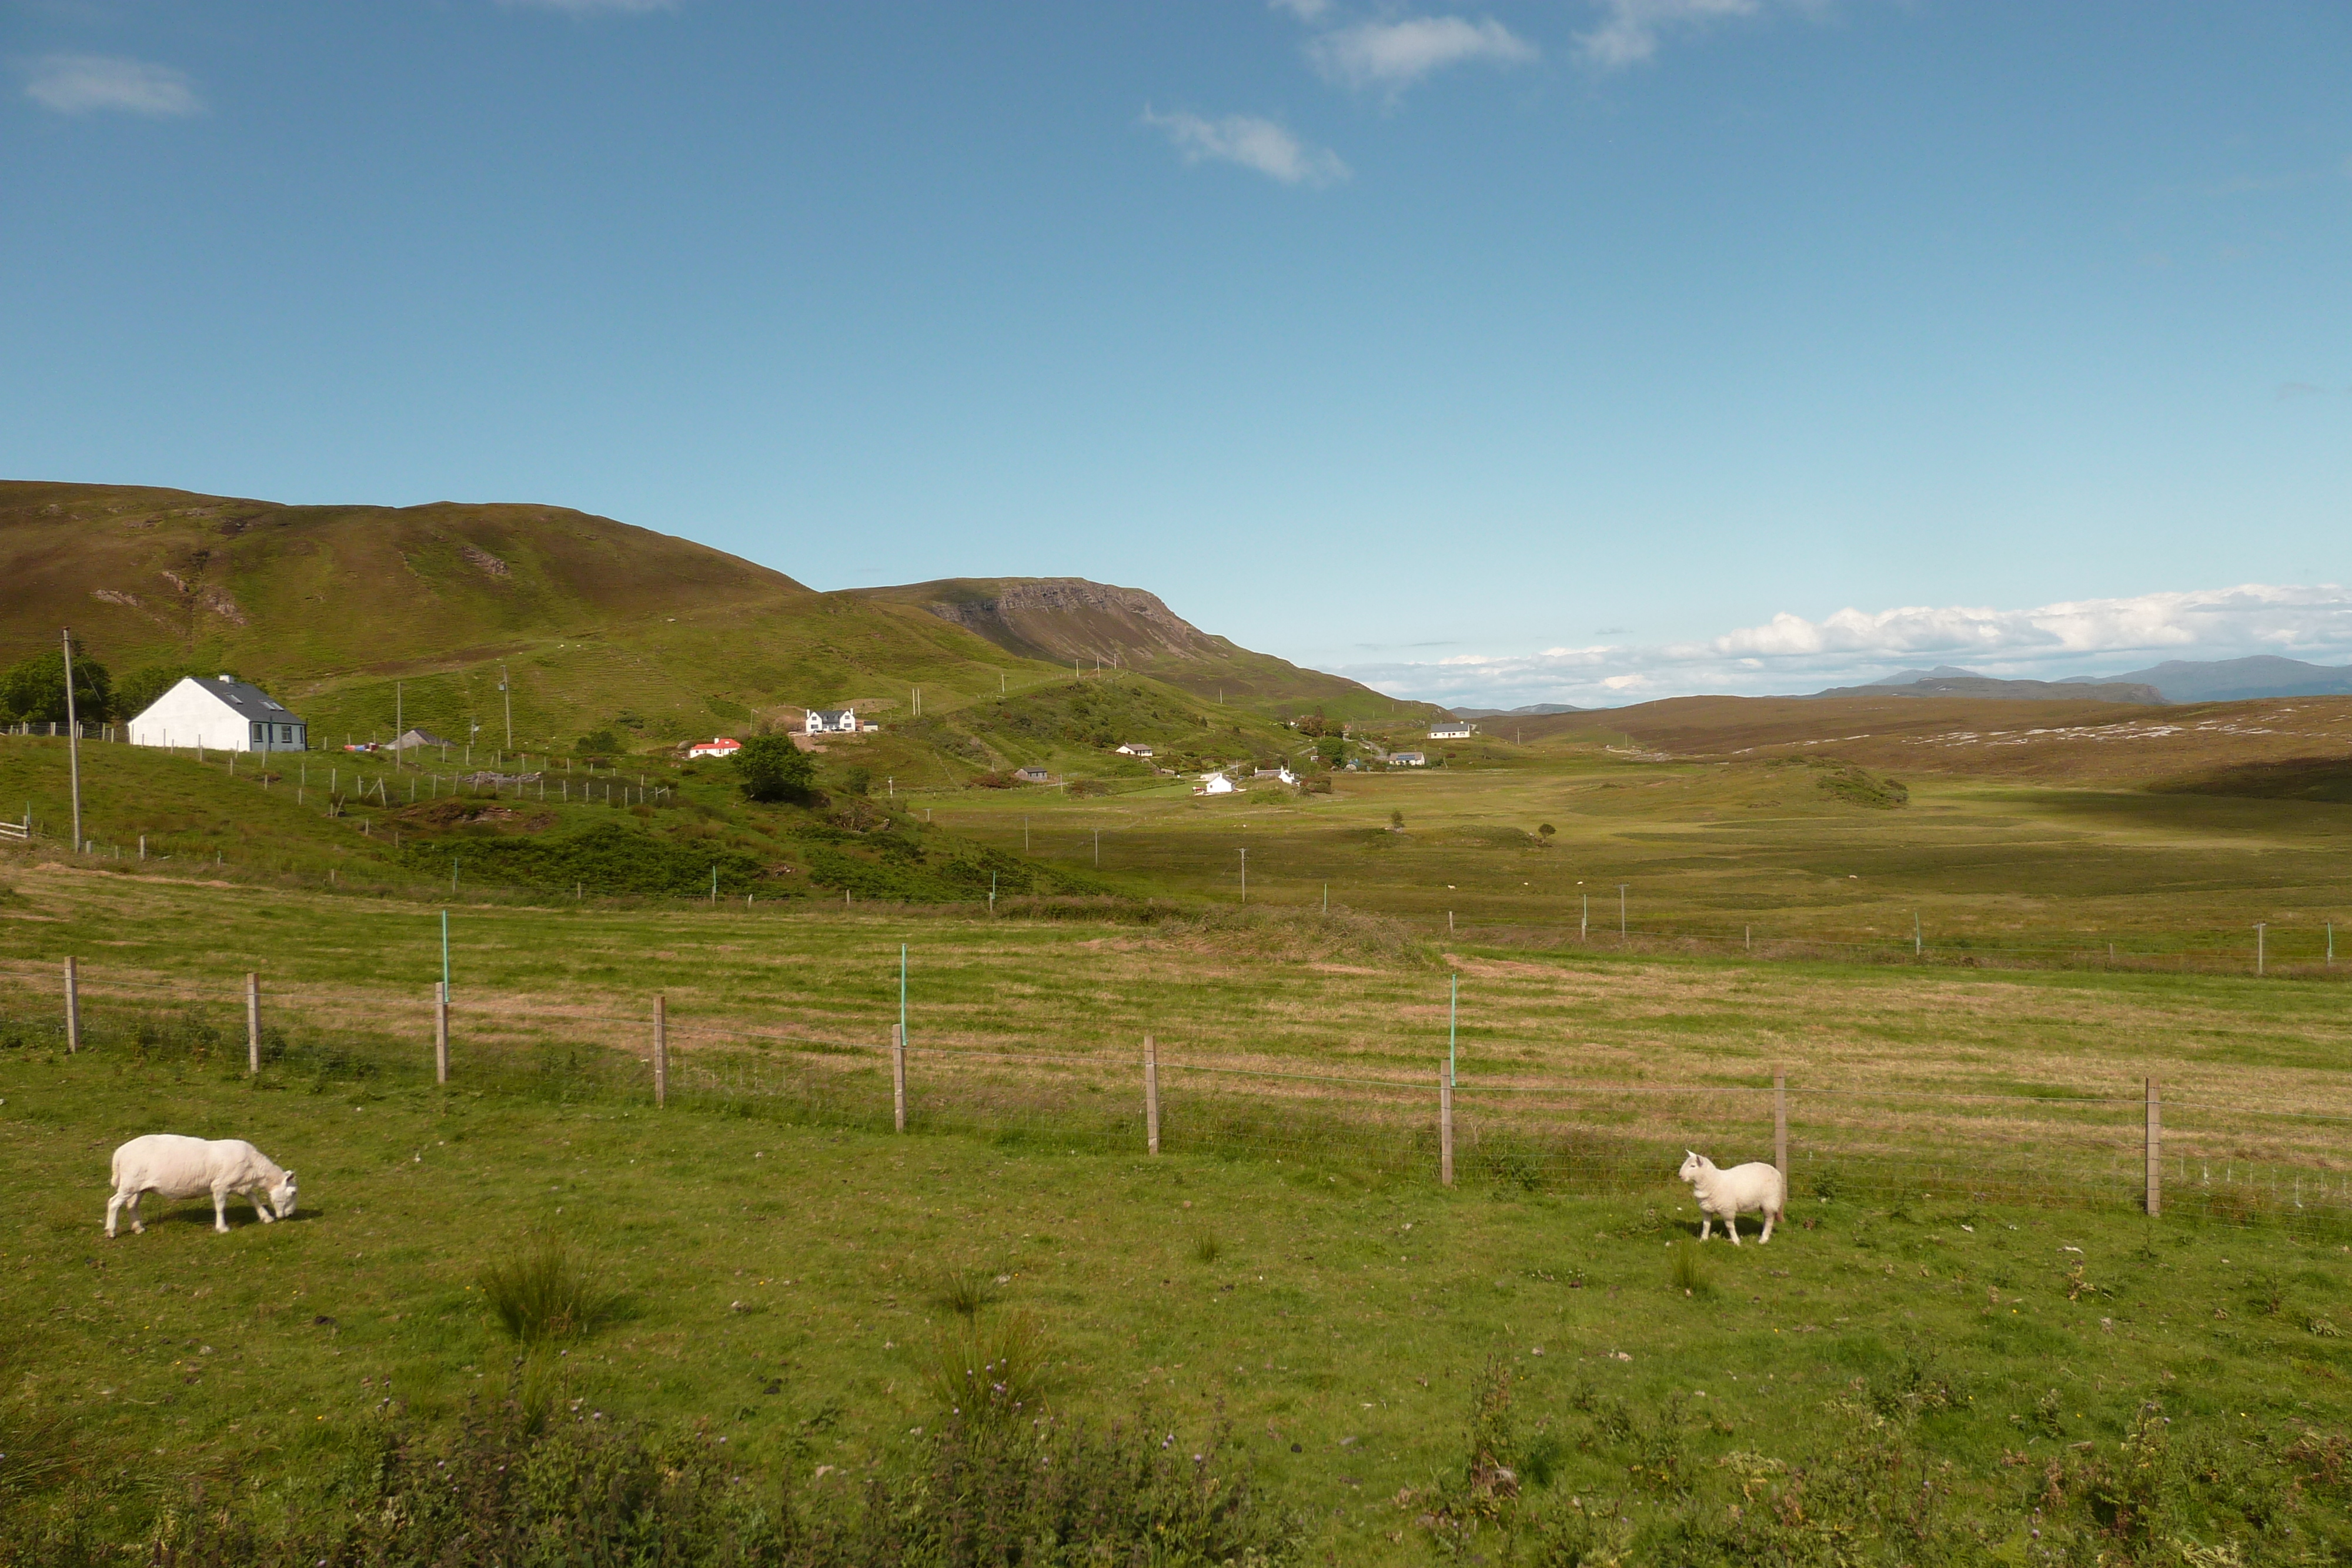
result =
M2352 658L2336 0L0 0L0 473L1461 703Z

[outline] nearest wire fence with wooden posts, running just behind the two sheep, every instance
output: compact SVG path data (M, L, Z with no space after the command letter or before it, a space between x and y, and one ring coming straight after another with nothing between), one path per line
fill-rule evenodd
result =
M71 992L71 997L68 997ZM0 964L0 1053L96 1051L134 1067L254 1070L313 1088L430 1086L433 994L245 990L212 978ZM666 1009L663 1009L666 1013ZM1969 1093L1771 1079L1566 1081L1538 1074L1301 1072L1145 1046L922 1046L868 1023L640 1016L550 997L456 997L449 1093L621 1100L713 1114L960 1133L1070 1152L1254 1159L1374 1180L1668 1199L1686 1150L1785 1161L1790 1218L1860 1201L2058 1206L2279 1225L2352 1239L2343 1103L2124 1093ZM659 1044L656 1044L659 1041ZM2154 1197L2154 1201L2150 1201Z

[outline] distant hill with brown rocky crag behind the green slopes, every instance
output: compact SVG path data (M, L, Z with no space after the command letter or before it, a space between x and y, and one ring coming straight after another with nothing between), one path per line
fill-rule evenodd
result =
M1251 654L1181 618L1157 595L1084 578L943 578L901 588L854 588L856 597L908 604L962 625L1021 658L1150 675L1225 708L1277 717L1397 719L1439 712L1341 675Z

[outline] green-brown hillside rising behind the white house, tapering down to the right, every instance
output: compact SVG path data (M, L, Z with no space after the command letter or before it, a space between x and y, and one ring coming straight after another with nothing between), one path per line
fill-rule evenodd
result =
M868 745L877 776L946 785L1089 750L1098 715L1073 719L1065 698L1047 703L1058 719L990 710L953 733L938 726L981 698L1080 684L1061 663L1070 625L1021 611L1042 637L1025 642L906 595L814 592L720 550L564 508L275 505L0 482L0 665L54 646L71 625L118 682L139 670L254 679L310 722L315 745L421 724L499 750L569 752L593 731L654 750L854 703L884 719ZM1270 755L1272 712L1421 710L1207 637L1164 607L1155 628L1127 611L1073 614L1131 689L1138 661L1120 649L1157 637L1167 654L1141 661L1141 675L1169 712L1148 736L1120 738L1240 722L1254 752ZM1094 684L1094 654L1080 663ZM910 745L915 689L927 719L915 733L946 750ZM985 738L997 731L1002 745Z

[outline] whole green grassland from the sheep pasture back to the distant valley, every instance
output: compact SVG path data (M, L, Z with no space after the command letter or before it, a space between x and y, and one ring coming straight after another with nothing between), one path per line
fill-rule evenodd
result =
M54 752L0 750L0 788L42 820ZM1129 896L990 917L781 889L449 896L376 837L416 820L393 809L362 835L219 766L85 759L94 837L148 820L174 858L0 851L0 1291L24 1326L0 1561L146 1561L209 1516L198 1488L315 1542L381 1514L393 1434L503 1403L557 1434L673 1434L790 1479L790 1507L856 1509L868 1479L924 1474L927 1366L967 1321L1040 1335L1056 1418L1148 1403L1188 1446L1223 1425L1204 1453L1263 1483L1296 1561L2352 1549L2352 1079L2310 940L2340 889L2333 806L1912 778L1886 809L1816 769L1599 748L1329 797L1134 780L875 806L868 835ZM826 820L743 809L713 769L647 771L677 797L557 804L541 832L621 820L750 853ZM2009 870L2032 889L2004 891ZM1632 882L1651 933L1757 912L1762 947L1618 945L1602 900L1576 940L1578 879ZM2166 929L2187 884L2204 924ZM426 1072L442 907L449 1088ZM1931 961L1823 957L1849 936L1900 957L1910 907ZM2234 959L2241 917L2274 922L2284 973L2129 961ZM2082 961L1957 961L2067 943ZM901 947L903 1138L880 1051ZM273 1032L259 1081L247 971ZM1430 1128L1456 985L1446 1190ZM656 992L680 1084L659 1112ZM1686 1143L1769 1157L1776 1070L1792 1225L1691 1248L1672 1164ZM2133 1213L2145 1079L2166 1093L2161 1220ZM209 1204L179 1204L103 1241L108 1150L162 1126L254 1138L301 1173L303 1211L263 1227L238 1204L216 1237ZM524 1359L477 1286L548 1232L614 1309Z

